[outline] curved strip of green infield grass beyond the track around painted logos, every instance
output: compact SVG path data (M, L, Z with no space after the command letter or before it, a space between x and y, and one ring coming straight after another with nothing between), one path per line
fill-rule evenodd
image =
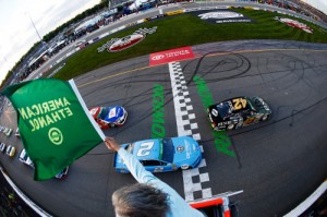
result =
M257 11L252 9L231 9L253 20L252 23L211 24L203 21L192 13L145 22L123 32L110 35L89 45L69 59L53 77L69 80L92 70L111 64L118 61L135 58L152 52L167 49L206 44L223 40L241 39L283 39L308 43L327 43L327 32L310 22L279 14L276 12ZM275 16L290 17L306 24L313 29L313 34L299 28L290 27L284 23L274 20ZM111 38L121 38L134 33L141 27L157 26L157 33L147 35L140 44L119 52L98 52L97 48ZM55 69L53 69L55 70ZM50 73L50 72L49 72ZM47 73L48 74L48 73Z

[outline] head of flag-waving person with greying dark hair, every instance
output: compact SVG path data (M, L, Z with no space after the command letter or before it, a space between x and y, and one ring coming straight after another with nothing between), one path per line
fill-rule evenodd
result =
M117 190L112 204L117 217L165 217L169 209L167 194L143 183Z

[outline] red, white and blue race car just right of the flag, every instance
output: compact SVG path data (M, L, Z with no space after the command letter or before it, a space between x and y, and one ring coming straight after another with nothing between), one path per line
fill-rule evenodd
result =
M89 112L100 129L122 126L128 119L128 112L121 106L95 107Z

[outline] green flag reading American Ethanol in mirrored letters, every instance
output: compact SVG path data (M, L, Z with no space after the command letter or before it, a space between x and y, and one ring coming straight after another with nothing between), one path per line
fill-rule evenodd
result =
M35 180L53 178L105 138L73 80L28 81L9 86L2 94L17 112Z

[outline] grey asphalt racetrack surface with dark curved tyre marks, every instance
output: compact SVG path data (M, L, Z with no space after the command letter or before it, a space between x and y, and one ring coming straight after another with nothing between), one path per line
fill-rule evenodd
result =
M327 46L296 41L246 40L192 47L197 58L181 67L207 161L213 194L243 190L233 196L240 216L282 216L308 196L327 173L326 97ZM173 96L167 64L148 67L144 56L76 77L88 107L122 105L129 111L124 126L106 130L119 142L152 136L154 85L165 87L166 136L177 135ZM234 157L215 144L201 96L193 82L203 77L215 101L234 96L259 95L274 112L268 122L228 132ZM4 109L1 124L15 126L12 107ZM81 132L83 133L83 132ZM20 140L1 134L7 144L22 149ZM55 216L113 216L110 196L134 183L130 174L112 168L112 153L104 144L76 160L64 181L35 182L33 170L17 155L0 156L15 183ZM183 195L182 172L158 178Z

